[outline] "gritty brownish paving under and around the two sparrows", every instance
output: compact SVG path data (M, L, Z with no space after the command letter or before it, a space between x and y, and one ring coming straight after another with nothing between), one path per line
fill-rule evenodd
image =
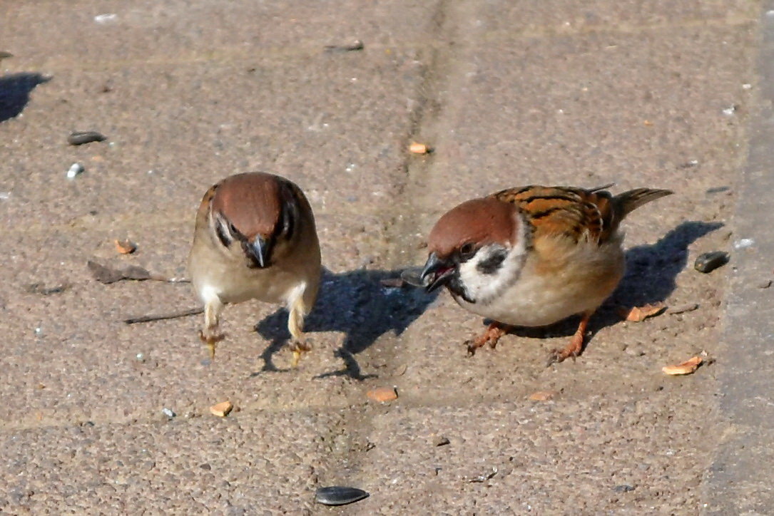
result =
M707 486L734 481L724 443L755 422L718 401L738 353L721 330L731 267L692 264L744 236L738 189L760 191L741 173L766 98L760 8L0 0L15 55L0 64L0 511L722 514ZM354 39L365 48L325 48ZM74 130L108 140L71 147ZM413 140L434 152L409 155ZM73 162L86 171L67 180ZM197 317L121 322L195 307L189 285L102 285L86 268L185 275L200 196L253 169L293 179L317 216L327 272L296 370L276 307L229 307L211 362ZM611 182L676 195L627 220L628 273L575 363L544 366L572 321L468 358L479 318L380 284L423 261L454 203ZM115 252L125 237L135 255ZM616 315L661 301L699 307ZM716 362L661 373L702 351ZM368 401L385 385L396 402ZM238 412L210 415L224 399ZM313 504L332 484L371 496Z

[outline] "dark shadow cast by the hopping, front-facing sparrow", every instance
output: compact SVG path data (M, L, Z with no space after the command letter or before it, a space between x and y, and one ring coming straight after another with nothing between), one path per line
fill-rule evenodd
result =
M306 337L313 343L314 332L341 332L344 343L334 351L344 366L337 371L316 378L348 376L356 380L373 378L363 374L356 355L371 346L383 334L392 331L401 334L421 316L436 298L423 289L409 285L386 286L383 280L398 280L402 269L391 271L358 269L334 273L323 270L320 295L304 324ZM287 371L276 367L274 355L288 342L287 311L279 309L255 325L269 346L263 350L263 367L252 376L264 371Z

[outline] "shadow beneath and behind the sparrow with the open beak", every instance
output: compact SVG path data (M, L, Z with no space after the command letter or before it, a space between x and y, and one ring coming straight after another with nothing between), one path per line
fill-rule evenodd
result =
M622 321L620 306L643 306L663 302L676 288L677 275L688 262L688 247L699 238L723 227L720 222L686 221L665 234L655 244L638 245L626 251L626 272L615 292L597 310L588 326L591 337L607 326ZM569 337L577 330L574 316L550 326L517 327L519 337ZM587 340L589 340L587 339Z

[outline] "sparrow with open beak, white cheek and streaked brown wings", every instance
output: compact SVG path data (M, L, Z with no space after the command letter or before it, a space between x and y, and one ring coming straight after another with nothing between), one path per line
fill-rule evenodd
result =
M495 347L510 326L547 326L580 314L577 331L549 364L577 357L591 315L624 275L621 221L670 190L612 195L611 184L585 190L523 186L468 200L437 221L420 282L446 286L463 308L493 322L468 341L468 353Z

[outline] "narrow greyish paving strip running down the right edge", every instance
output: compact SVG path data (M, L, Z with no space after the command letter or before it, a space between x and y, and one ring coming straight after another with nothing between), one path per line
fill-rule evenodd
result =
M705 482L707 514L774 514L774 2L764 2L760 84L750 130L738 206L734 267L724 316L724 354L719 366L721 406L728 418L717 457Z

